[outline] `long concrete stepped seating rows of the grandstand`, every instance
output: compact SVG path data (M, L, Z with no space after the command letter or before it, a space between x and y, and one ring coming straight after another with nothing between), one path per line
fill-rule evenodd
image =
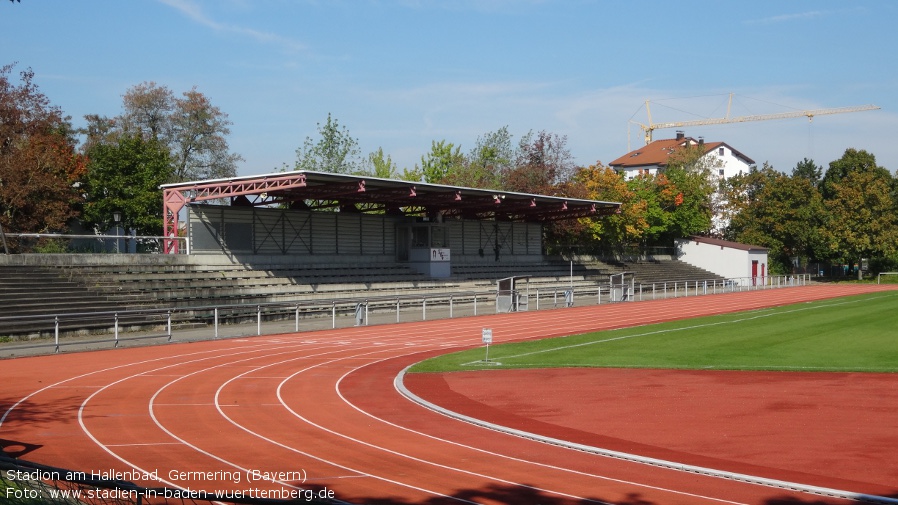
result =
M496 280L526 274L533 288L595 289L609 277L634 272L637 283L718 279L686 263L667 260L466 265L445 279L431 279L407 266L365 264L306 266L276 262L252 266L215 264L214 257L187 255L19 255L41 265L0 266L4 316L66 314L134 309L188 309L226 304L299 302L349 297L466 293L495 290ZM158 323L158 321L150 321ZM125 322L123 321L123 324ZM129 321L128 324L139 324ZM29 325L6 324L5 335L28 332ZM78 329L69 325L71 330ZM66 330L67 328L63 328Z

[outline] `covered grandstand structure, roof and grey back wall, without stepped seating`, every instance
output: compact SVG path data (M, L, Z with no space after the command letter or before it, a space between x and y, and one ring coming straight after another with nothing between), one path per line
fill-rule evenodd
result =
M401 263L431 277L452 264L539 263L543 224L600 217L620 204L320 172L162 187L165 234L190 254L241 263ZM186 220L182 226L181 219ZM179 251L177 241L165 245Z

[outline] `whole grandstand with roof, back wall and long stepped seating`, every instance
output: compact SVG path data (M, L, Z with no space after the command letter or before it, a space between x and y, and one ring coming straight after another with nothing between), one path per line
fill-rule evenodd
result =
M165 254L0 256L3 317L451 297L511 276L535 289L593 292L621 272L645 284L719 279L675 260L544 255L544 223L600 218L614 202L316 172L167 185L163 200L166 237L186 235L166 239ZM123 325L159 323L130 317ZM4 335L33 331L4 322Z

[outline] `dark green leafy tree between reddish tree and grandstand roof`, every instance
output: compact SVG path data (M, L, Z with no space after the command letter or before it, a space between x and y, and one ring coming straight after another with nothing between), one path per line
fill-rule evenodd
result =
M108 230L114 211L122 225L139 235L162 234L162 195L159 186L173 170L168 149L142 135L120 136L115 144L94 145L88 153L84 190L84 221Z

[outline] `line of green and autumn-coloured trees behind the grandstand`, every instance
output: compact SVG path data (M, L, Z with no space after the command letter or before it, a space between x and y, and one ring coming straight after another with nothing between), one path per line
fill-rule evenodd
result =
M196 88L176 95L145 82L128 89L119 114L86 116L75 129L28 69L0 67L0 225L7 232L102 232L121 223L159 235L159 185L236 175L242 158L227 142L232 124ZM698 147L674 152L656 175L626 179L601 162L578 165L567 138L547 131L517 140L501 127L469 150L432 141L414 167L359 142L328 115L291 166L380 178L621 202L601 219L550 223L549 252L597 255L669 248L676 238L714 235L770 249L771 271L811 261L898 267L898 180L873 154L849 148L824 171L799 162L791 174L764 164L720 180Z

